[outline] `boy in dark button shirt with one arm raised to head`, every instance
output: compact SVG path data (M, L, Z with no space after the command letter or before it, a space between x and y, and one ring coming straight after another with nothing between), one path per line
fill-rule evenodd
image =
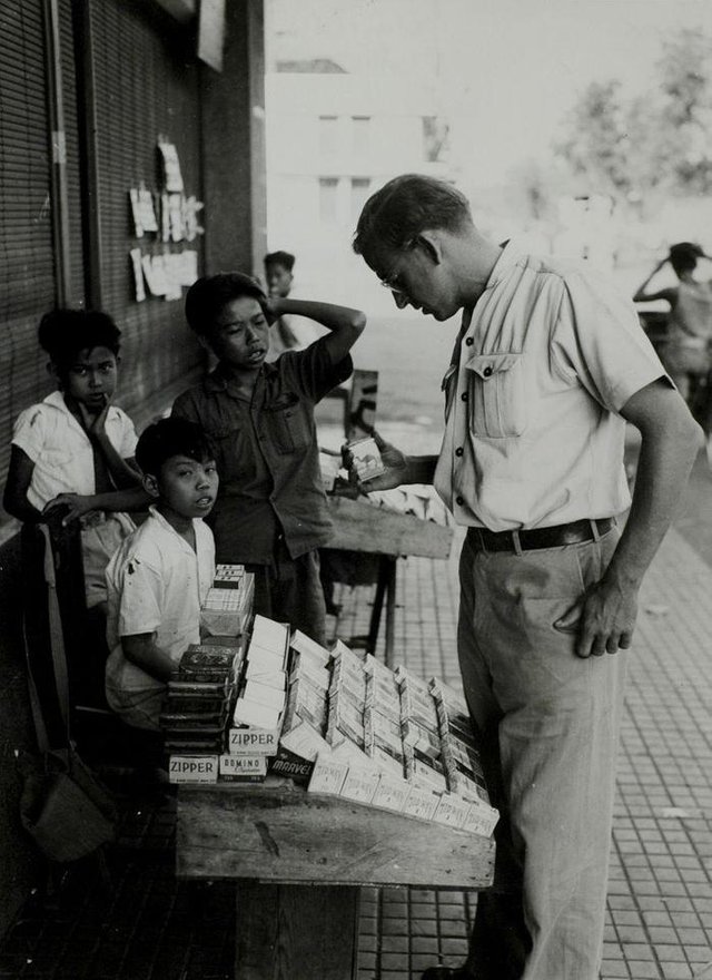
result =
M329 332L266 364L269 323L283 313L308 316ZM328 543L332 525L314 405L350 375L348 352L366 317L327 303L267 300L239 273L198 280L186 296L186 317L219 361L174 405L174 416L202 425L215 451L217 560L255 572L256 612L324 643L317 549Z

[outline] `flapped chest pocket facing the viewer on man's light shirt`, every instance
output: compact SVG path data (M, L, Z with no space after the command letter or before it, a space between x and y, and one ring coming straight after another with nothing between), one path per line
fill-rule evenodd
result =
M526 428L524 354L474 354L465 367L471 431L490 439L521 435Z

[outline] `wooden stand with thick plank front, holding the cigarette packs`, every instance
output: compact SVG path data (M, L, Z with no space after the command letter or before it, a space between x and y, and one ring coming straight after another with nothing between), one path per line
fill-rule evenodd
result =
M494 841L307 793L182 785L176 873L238 881L238 980L356 977L359 886L483 889Z

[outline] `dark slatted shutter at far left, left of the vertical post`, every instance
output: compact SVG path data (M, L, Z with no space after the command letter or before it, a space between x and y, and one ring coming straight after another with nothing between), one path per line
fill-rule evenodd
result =
M40 0L0 4L0 480L16 415L51 389L37 344L55 304Z

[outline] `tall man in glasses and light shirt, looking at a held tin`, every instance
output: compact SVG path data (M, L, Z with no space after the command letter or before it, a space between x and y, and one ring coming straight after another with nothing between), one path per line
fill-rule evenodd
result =
M439 457L382 443L387 472L366 484L433 480L467 528L459 666L502 814L467 962L424 977L595 980L624 651L700 432L630 301L488 241L451 185L389 182L354 249L399 308L463 311ZM642 445L620 533L626 422Z

